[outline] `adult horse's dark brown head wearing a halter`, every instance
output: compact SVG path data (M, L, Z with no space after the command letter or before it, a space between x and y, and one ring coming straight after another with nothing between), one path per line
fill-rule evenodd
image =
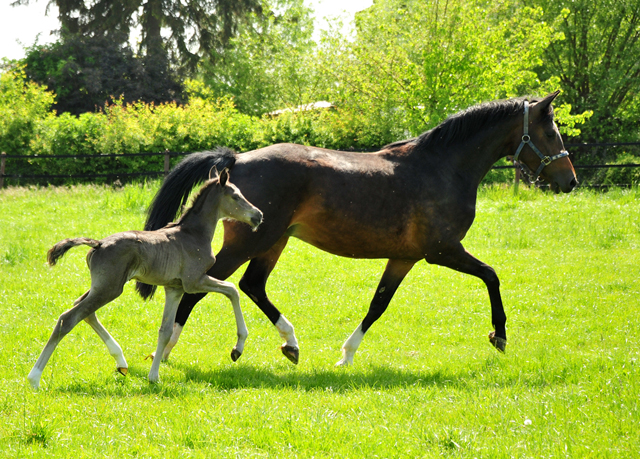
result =
M514 160L529 169L533 180L540 176L556 193L568 193L578 180L560 131L553 121L551 102L559 93L556 91L531 104L524 102L524 132Z

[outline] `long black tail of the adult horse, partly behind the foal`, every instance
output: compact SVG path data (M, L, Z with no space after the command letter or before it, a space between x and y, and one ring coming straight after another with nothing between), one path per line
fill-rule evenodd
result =
M216 167L218 171L231 168L236 162L236 152L226 147L212 151L193 153L180 161L167 175L156 193L149 209L146 231L154 231L171 223L183 205L189 199L191 190L209 178L209 171ZM144 299L153 296L156 286L142 282L136 283L136 290Z

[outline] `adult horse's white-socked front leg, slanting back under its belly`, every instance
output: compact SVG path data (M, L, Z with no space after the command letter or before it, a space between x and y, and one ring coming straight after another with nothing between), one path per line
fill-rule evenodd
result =
M400 283L405 278L416 262L413 260L389 260L384 270L384 274L380 279L376 293L369 306L369 312L363 319L358 328L349 336L347 341L342 345L342 359L336 366L346 366L353 363L355 355L364 334L369 327L380 318L393 298L394 293L398 290Z

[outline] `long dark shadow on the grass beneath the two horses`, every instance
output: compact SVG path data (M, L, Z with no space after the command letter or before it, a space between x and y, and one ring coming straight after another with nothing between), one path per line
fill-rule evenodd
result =
M349 393L360 390L396 390L437 388L445 390L484 390L523 386L529 389L564 384L561 373L568 371L562 366L546 371L533 369L510 370L501 356L491 356L474 365L444 365L434 369L399 369L388 366L366 366L349 368L304 368L289 364L264 367L255 365L224 365L206 369L193 364L169 361L160 369L161 382L147 381L148 366L129 367L128 376L117 373L109 375L103 383L74 381L53 388L53 392L70 393L90 397L122 396L135 397L155 395L179 398L202 392L206 385L212 391L234 391L242 389L290 390L297 392L330 391ZM165 371L163 371L163 368ZM173 370L173 375L169 369ZM182 379L176 373L182 373ZM163 376L164 375L164 376Z

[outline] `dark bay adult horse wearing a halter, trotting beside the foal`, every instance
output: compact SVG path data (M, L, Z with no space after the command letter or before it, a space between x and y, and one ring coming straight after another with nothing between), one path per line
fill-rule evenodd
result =
M291 361L297 363L299 354L293 327L265 292L269 274L291 236L344 257L389 259L369 312L342 347L339 365L353 362L366 331L422 259L484 281L494 327L489 338L504 351L506 315L498 276L461 241L475 217L478 185L500 158L519 157L556 192L566 193L577 185L553 120L551 102L557 95L474 106L419 137L371 154L292 144L237 156L228 150L195 153L163 183L149 209L146 229L171 221L210 167L232 167L235 183L264 212L264 224L252 233L243 225L225 222L224 245L209 274L226 279L250 261L240 288L276 326L285 339L282 351ZM152 292L144 285L138 289L146 295ZM203 296L183 297L164 358Z

